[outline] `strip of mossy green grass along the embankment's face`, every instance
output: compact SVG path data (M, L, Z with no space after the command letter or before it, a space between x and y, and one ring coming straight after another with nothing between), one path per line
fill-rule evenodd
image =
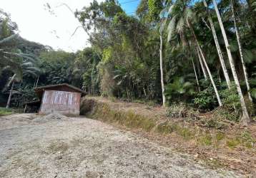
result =
M237 133L237 137L228 137L227 133L219 131L220 127L218 127L217 122L211 121L208 123L212 127L212 130L215 129L213 131L216 131L209 132L196 127L186 127L172 122L172 120L167 120L159 124L156 119L139 115L132 110L114 110L107 103L95 102L90 109L91 112L88 112L88 117L133 129L141 129L146 132L157 132L160 135L169 135L174 132L184 140L195 140L198 145L212 147L224 146L231 149L235 149L237 146L251 149L255 145L255 138L252 137L250 132L242 131ZM198 132L200 135L197 134Z

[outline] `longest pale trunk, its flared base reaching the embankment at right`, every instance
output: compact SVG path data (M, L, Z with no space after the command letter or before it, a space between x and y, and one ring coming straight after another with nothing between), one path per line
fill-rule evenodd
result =
M241 87L240 87L240 83L239 83L239 80L237 78L237 72L235 70L235 65L234 65L234 61L233 61L233 58L232 58L232 54L231 54L231 51L230 51L230 45L227 41L227 35L226 35L226 32L225 32L225 28L223 26L223 23L222 23L222 19L220 18L220 12L217 8L217 3L215 0L212 0L213 2L213 5L215 6L215 11L216 11L216 14L217 14L217 19L220 23L220 29L222 31L222 36L224 38L224 41L225 41L225 46L226 46L226 50L227 50L227 56L228 56L228 59L230 61L230 67L231 67L231 70L232 70L232 75L233 75L233 78L235 80L235 85L236 85L236 88L237 88L237 93L240 97L240 104L241 104L241 108L242 108L242 118L241 118L241 122L243 125L248 125L248 123L250 122L250 117L249 117L249 114L248 114L248 111L247 111L247 108L246 108L246 105L245 105L245 99L244 99L244 96L242 95L242 90L241 90Z

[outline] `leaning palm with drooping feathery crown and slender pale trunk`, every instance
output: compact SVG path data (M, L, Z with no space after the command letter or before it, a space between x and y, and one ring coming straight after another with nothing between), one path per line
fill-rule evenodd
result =
M219 95L217 87L215 85L215 81L212 78L212 73L210 71L210 68L207 65L206 60L205 60L205 55L202 52L202 48L200 47L200 44L197 40L197 36L195 35L195 31L192 28L192 25L190 23L190 20L194 17L194 13L187 6L186 1L185 2L184 1L175 1L175 3L172 6L170 6L168 12L169 12L169 15L171 16L171 19L170 19L168 27L167 27L168 41L172 38L174 31L177 31L177 33L179 34L181 39L184 38L184 35L183 35L184 27L185 27L185 24L187 24L187 26L189 27L189 30L191 31L192 36L194 38L195 45L197 46L197 49L200 52L200 56L202 57L202 62L204 63L205 68L207 69L207 73L210 77L210 81L215 90L215 95L217 97L217 101L218 101L219 105L221 106L222 102L220 100L220 95Z

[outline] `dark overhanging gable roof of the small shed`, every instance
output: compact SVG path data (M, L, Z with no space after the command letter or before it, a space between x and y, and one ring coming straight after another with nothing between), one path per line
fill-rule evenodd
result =
M86 94L84 90L81 90L80 88L69 85L67 83L61 83L61 84L56 84L56 85L45 85L45 86L34 88L34 91L39 96L39 98L41 98L41 95L44 90L61 90L61 91L82 93L82 95Z

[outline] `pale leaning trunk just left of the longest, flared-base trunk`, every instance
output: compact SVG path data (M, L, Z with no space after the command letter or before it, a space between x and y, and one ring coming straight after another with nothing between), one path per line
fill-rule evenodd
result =
M205 8L207 9L208 6L207 6L207 3L206 1L204 0L204 5L205 5ZM230 84L230 76L228 75L227 73L227 68L226 68L226 64L225 64L225 61L224 61L224 58L222 56L222 51L220 49L220 44L219 44L219 41L217 39L217 35L216 35L216 31L215 31L215 26L213 25L213 22L212 22L212 18L208 12L208 9L207 9L207 15L208 15L208 20L210 21L210 27L212 29L212 36L215 40L215 46L217 48L217 53L219 55L219 58L220 58L220 64L222 66L222 71L223 71L223 74L224 74L224 77L225 77L225 80L227 82L227 87L230 89L231 88L231 84Z

